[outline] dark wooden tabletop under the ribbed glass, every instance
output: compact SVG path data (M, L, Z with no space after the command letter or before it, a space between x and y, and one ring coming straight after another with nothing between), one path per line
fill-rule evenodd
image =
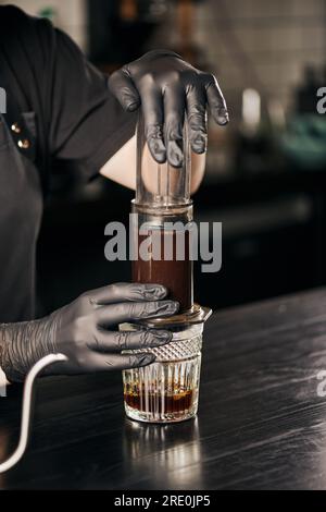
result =
M326 488L323 369L326 290L218 312L196 420L127 420L118 374L42 379L28 450L0 488ZM0 399L0 460L16 442L21 391Z

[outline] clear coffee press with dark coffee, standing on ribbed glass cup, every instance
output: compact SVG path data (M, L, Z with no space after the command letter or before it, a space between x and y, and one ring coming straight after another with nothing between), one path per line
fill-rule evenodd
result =
M143 119L139 117L137 186L131 203L133 281L163 284L168 298L180 305L172 317L121 326L128 330L163 328L173 333L167 345L146 350L156 356L153 364L123 373L127 416L150 423L180 422L197 414L203 324L212 313L193 302L191 254L197 236L187 123L183 150L181 168L158 163L147 146Z

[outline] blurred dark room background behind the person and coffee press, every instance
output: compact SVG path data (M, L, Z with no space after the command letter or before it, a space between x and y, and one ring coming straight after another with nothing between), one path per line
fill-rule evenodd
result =
M5 3L5 2L2 2ZM326 283L324 0L22 0L65 29L105 72L171 48L218 77L231 122L211 124L196 218L223 222L223 267L196 271L196 298L221 308ZM104 225L127 219L133 193L99 178L55 184L39 244L39 291L51 310L130 277L104 259Z

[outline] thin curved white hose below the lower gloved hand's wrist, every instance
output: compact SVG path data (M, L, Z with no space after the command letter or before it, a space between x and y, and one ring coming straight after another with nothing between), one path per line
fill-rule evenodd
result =
M33 385L38 374L46 368L46 366L52 365L59 361L67 361L67 357L63 354L49 354L39 359L29 370L23 394L23 406L22 406L22 422L21 422L21 437L16 450L13 454L2 464L0 464L0 474L7 472L13 467L24 455L26 446L28 442L30 412L32 412L32 397L33 397Z

